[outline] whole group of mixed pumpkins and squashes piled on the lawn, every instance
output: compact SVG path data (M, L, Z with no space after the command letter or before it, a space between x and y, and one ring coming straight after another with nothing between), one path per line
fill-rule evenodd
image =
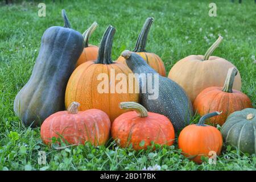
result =
M178 61L167 78L160 57L145 50L153 18L144 23L134 51L123 51L113 62L113 26L106 29L98 48L88 43L97 23L81 35L71 29L65 10L62 15L64 27L44 32L32 75L14 101L14 111L26 126L42 125L44 143L51 144L56 137L70 144L89 141L98 146L111 133L119 146L140 150L152 143L170 146L180 132L179 148L197 163L209 151L220 154L222 138L242 152L255 153L256 111L238 91L240 73L229 61L210 56L221 36L204 56ZM97 77L110 76L111 69L127 76L137 73L134 84L140 90L143 81L159 73L158 98L150 99L150 92L99 93ZM201 115L200 121L189 125L194 111ZM221 132L214 127L217 124Z

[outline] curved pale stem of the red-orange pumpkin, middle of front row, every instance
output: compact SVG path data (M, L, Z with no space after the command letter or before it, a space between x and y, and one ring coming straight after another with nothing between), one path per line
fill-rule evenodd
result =
M147 109L137 102L120 102L120 109L134 110L141 118L147 117Z

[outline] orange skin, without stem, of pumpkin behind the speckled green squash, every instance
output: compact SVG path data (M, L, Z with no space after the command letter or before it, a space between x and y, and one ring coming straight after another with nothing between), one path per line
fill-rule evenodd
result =
M161 76L166 76L166 68L164 67L164 63L162 59L156 55L155 53L150 52L135 52L140 55L151 68L153 68L156 72L158 72ZM122 56L119 56L117 61L119 63L123 63L125 65L126 61Z

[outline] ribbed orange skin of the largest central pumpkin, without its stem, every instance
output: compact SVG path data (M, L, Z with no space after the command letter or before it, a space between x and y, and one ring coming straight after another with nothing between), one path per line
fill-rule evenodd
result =
M66 107L71 104L71 102L76 101L80 103L80 110L87 109L100 109L109 115L110 121L114 121L125 110L119 109L119 102L138 102L138 93L99 93L98 85L102 80L97 80L97 77L101 73L105 73L109 77L110 82L110 69L115 70L115 75L118 73L124 73L128 75L132 73L126 65L122 63L113 64L95 64L95 61L87 61L81 64L72 73L69 78L66 93L65 93L65 105ZM115 86L119 81L115 81ZM135 88L134 82L133 88ZM127 79L127 85L129 85L129 80ZM112 85L113 86L113 85Z

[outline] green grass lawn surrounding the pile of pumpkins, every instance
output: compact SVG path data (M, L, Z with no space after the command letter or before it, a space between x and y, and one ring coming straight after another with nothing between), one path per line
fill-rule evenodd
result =
M22 126L13 111L16 93L27 82L39 52L40 38L50 26L63 26L60 11L67 11L71 26L84 32L96 20L99 24L90 43L99 44L106 27L117 32L113 59L124 49L133 49L144 20L155 22L148 36L147 51L162 57L167 73L172 65L191 54L204 54L217 39L224 37L214 55L231 61L241 73L242 91L255 107L256 22L254 1L241 5L214 1L217 17L209 17L212 1L65 1L46 2L46 18L38 17L38 3L18 3L0 7L0 170L134 170L158 164L165 170L255 170L255 155L239 154L224 147L216 165L197 165L185 159L176 144L155 151L135 152L115 146L90 144L63 149L49 148L40 139L40 129ZM201 28L201 31L200 31ZM212 35L212 36L211 36ZM209 42L204 37L207 36ZM198 121L198 118L195 119ZM38 164L38 152L46 151L47 164Z

